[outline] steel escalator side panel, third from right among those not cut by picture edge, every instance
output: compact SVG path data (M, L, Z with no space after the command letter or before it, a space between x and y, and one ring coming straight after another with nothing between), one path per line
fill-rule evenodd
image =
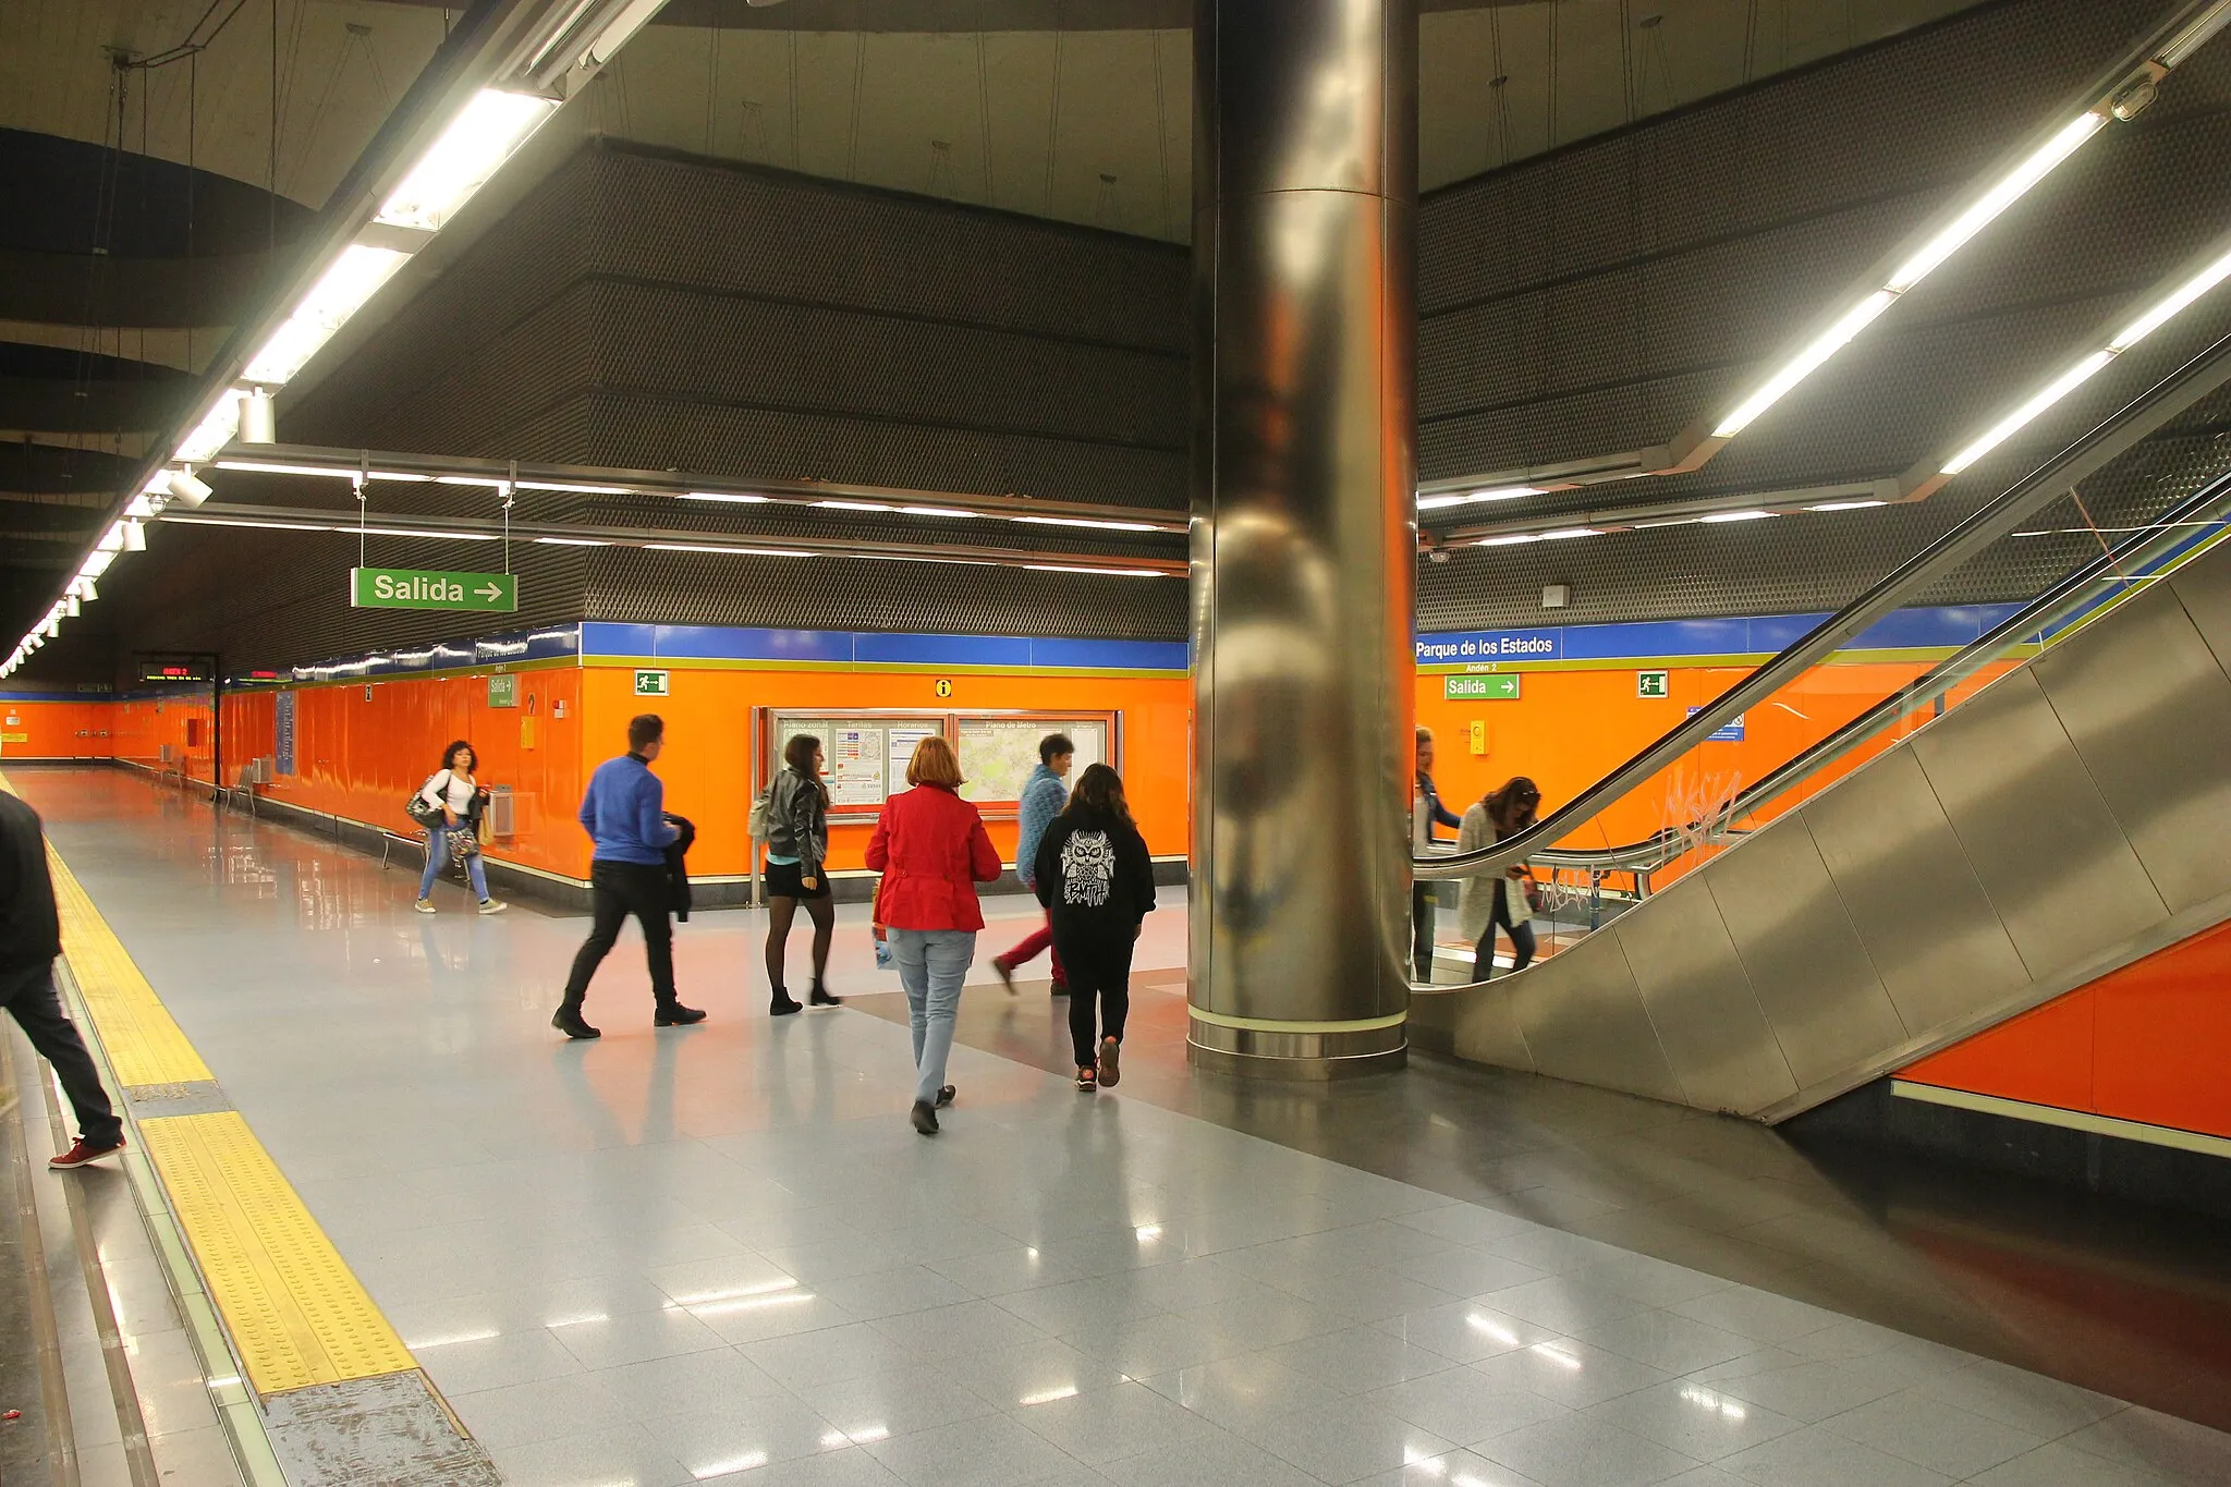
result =
M1800 1086L1908 1028L1874 972L1803 814L1704 878Z

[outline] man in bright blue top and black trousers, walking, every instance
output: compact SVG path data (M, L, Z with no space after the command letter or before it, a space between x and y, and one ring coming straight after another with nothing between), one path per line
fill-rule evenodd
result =
M667 912L674 907L667 887L667 847L678 829L667 820L667 789L651 774L651 760L665 747L667 725L658 713L643 713L627 722L627 754L607 758L589 776L589 794L580 803L580 825L596 840L596 856L589 858L589 890L593 894L596 921L580 954L573 956L573 974L564 983L564 1001L551 1026L569 1039L602 1037L580 1017L580 1003L589 994L589 976L611 954L620 939L620 925L634 914L643 925L643 952L651 961L651 997L658 1012L651 1019L660 1028L683 1028L705 1021L698 1008L685 1008L674 997L674 925Z

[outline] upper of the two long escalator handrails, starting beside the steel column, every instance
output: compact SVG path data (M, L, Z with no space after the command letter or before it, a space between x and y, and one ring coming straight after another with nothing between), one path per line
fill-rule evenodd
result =
M1450 856L1412 858L1414 876L1428 883L1470 878L1497 874L1526 858L1539 856L1548 843L1568 836L1606 805L1620 800L1631 789L1653 778L1662 767L1704 742L1736 713L1765 702L1791 678L1841 651L1854 635L1890 615L1912 593L1977 557L1983 548L2006 537L2039 508L2097 475L2102 468L2126 455L2140 439L2155 433L2169 419L2186 412L2224 381L2231 381L2231 334L2218 337L2202 352L2104 417L2059 455L2046 459L2026 477L2008 486L2001 495L1979 506L1952 526L1952 531L1908 557L1885 577L1876 580L1863 595L1814 626L1796 644L1787 647L1765 667L1751 671L1713 702L1691 713L1687 722L1669 729L1658 742L1602 776L1595 785L1580 791L1551 816L1544 816L1517 836L1508 836L1493 847L1457 852Z

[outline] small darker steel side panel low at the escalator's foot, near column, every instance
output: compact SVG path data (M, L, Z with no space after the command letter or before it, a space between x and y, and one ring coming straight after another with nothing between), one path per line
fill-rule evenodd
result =
M1535 1068L1557 1079L1687 1104L1620 939L1591 934L1555 963L1562 968L1555 985L1524 974L1513 976L1508 990L1510 1019L1524 1032ZM1459 1043L1461 1028L1459 1014Z

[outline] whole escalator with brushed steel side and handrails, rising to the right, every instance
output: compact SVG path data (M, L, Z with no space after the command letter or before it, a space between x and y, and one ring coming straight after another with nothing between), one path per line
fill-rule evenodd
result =
M1421 861L1421 878L1524 861L1597 890L1626 874L1633 892L1617 914L1597 894L1586 925L1600 927L1519 974L1412 988L1419 1041L1780 1121L2231 919L2220 453L2204 477L2180 475L2189 495L1738 791L1718 829L1577 845L1727 718L1783 696L2227 381L2231 337L1566 809L1495 849Z

